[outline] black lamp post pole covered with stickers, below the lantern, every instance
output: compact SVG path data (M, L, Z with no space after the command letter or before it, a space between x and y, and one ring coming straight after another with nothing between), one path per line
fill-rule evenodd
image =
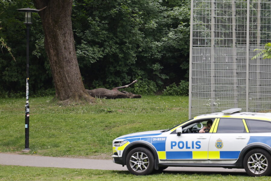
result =
M29 149L29 24L26 24L26 104L25 104L25 149Z

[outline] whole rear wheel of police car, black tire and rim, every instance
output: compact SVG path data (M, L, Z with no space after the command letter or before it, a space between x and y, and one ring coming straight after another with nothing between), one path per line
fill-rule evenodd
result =
M271 155L262 149L249 151L243 164L249 176L269 176L271 173Z

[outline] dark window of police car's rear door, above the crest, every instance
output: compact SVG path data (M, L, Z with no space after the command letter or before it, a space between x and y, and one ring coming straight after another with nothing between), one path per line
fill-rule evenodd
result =
M242 119L220 118L217 133L244 133L246 132Z

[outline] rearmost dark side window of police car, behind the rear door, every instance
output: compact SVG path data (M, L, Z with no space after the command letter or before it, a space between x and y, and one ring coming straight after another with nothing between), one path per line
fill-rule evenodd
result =
M271 132L271 122L246 119L250 133L268 133Z

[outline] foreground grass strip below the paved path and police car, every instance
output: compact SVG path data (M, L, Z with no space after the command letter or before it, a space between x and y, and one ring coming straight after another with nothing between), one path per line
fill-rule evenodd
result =
M211 168L210 168L211 169ZM12 181L36 181L36 180L95 180L95 181L195 181L195 180L216 180L216 181L267 181L269 176L249 177L246 173L193 173L193 172L168 172L156 173L147 176L135 176L128 171L113 170L87 170L87 169L68 169L68 168L45 168L45 167L21 167L0 165L0 180Z

